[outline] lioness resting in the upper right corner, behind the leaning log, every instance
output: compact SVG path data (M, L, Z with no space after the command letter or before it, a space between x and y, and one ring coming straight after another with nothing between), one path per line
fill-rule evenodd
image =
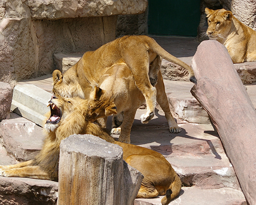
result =
M256 61L256 32L225 9L205 8L209 39L225 45L233 63Z

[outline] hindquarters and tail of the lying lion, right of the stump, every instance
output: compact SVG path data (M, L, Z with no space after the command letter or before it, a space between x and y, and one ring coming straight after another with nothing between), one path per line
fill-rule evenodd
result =
M124 160L144 175L137 198L165 195L161 203L169 204L179 195L180 178L163 155L144 147L117 141L115 143L122 147Z

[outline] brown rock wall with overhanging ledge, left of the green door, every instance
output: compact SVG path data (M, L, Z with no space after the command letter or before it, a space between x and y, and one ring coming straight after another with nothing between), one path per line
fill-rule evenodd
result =
M146 0L1 1L0 81L50 73L54 53L95 50L116 38L117 15L146 7Z

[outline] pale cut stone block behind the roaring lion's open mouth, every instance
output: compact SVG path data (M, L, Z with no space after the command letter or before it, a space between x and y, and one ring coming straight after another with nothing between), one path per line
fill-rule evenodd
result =
M43 126L51 94L32 84L18 84L13 89L11 111Z

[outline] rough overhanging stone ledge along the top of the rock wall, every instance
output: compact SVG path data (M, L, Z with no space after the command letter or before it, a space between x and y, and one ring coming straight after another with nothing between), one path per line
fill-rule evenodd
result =
M147 8L146 0L117 0L117 1L70 1L70 0L27 0L7 1L0 10L0 18L6 13L12 18L31 17L32 19L61 19L77 17L102 17L119 14L144 13Z

